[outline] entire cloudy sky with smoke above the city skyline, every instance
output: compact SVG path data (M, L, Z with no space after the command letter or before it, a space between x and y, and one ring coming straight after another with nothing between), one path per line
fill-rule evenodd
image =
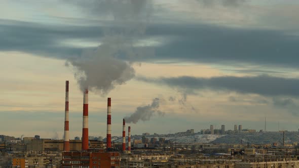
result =
M167 134L210 124L299 129L299 3L8 1L0 6L0 134Z

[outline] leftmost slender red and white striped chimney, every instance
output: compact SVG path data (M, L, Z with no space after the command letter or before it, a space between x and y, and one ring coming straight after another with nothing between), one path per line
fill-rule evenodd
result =
M65 113L64 113L64 143L63 151L69 151L69 127L68 127L68 80L65 81Z

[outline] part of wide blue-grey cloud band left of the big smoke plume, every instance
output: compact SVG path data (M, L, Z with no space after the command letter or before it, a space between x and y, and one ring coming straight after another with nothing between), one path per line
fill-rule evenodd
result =
M99 41L96 26L58 26L32 22L0 20L0 50L21 51L58 59L78 56L81 48L63 45L64 40Z

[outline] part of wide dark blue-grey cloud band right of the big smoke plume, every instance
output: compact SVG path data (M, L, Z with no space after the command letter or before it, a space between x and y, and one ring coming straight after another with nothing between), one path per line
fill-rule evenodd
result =
M299 36L284 31L238 29L212 25L159 25L147 31L173 38L156 47L160 60L207 62L239 66L240 63L283 65L297 68Z

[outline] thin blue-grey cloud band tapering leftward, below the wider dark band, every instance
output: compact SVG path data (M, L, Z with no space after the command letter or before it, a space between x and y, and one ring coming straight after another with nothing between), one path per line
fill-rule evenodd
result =
M219 76L211 78L192 76L146 78L139 76L137 80L194 91L208 89L242 94L259 94L263 96L299 96L299 79L269 75L244 77Z

